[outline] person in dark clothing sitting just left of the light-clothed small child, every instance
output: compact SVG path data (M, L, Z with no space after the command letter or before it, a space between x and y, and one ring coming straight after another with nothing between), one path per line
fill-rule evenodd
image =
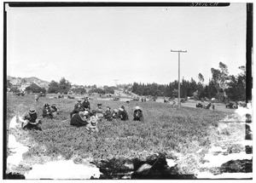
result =
M90 115L89 112L78 112L73 115L73 117L70 120L70 124L76 127L82 127L89 124L90 121Z

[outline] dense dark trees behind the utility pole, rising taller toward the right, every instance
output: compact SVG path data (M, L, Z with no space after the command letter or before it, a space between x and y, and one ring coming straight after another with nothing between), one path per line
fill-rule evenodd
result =
M219 62L218 69L212 68L212 79L204 83L205 79L201 73L198 75L199 82L191 78L190 81L182 80L181 97L194 97L201 99L217 98L223 102L225 100L246 100L246 69L240 66L241 72L237 75L229 75L228 66ZM169 84L157 83L133 83L131 91L139 95L177 97L178 82L175 80Z

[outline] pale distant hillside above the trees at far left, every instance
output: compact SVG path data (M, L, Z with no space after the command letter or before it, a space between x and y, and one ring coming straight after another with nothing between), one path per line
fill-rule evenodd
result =
M38 84L39 87L49 88L49 82L39 79L38 77L10 77L7 76L7 80L14 85L30 85L32 83Z

